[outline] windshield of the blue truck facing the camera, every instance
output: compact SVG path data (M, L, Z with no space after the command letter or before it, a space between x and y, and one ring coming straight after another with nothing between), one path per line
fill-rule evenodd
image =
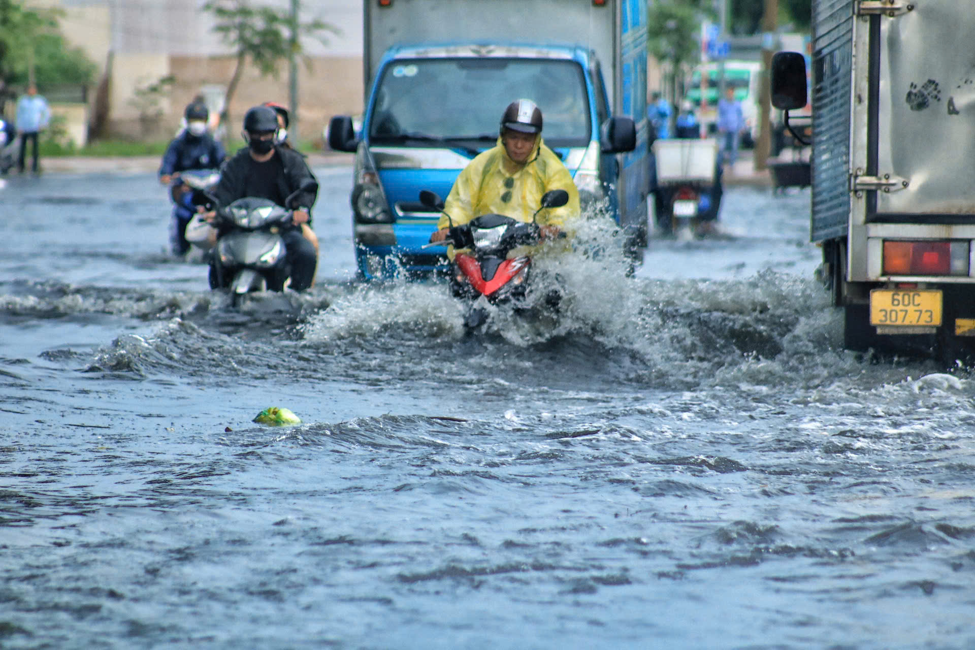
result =
M493 143L505 107L538 104L549 146L586 146L589 101L578 63L547 58L410 58L385 66L369 118L372 141Z

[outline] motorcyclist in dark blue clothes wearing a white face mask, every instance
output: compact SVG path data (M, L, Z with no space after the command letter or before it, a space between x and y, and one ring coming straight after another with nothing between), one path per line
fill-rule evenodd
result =
M175 204L170 223L170 246L175 255L184 255L190 248L186 241L186 224L196 211L190 203L192 193L179 181L179 172L215 170L226 158L223 145L207 131L210 111L206 104L190 103L183 111L183 116L186 119L186 129L170 142L159 167L159 182L171 185L170 193Z

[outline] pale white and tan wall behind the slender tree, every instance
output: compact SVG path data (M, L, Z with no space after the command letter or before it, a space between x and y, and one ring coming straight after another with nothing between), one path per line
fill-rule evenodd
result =
M61 32L82 48L109 75L107 133L157 138L176 132L186 103L202 91L222 96L233 73L234 59L212 31L214 21L202 11L206 0L25 0L28 5L57 7L63 12ZM338 29L325 44L305 41L312 68L299 67L299 118L302 137L320 137L329 117L362 110L363 0L303 0L302 19L322 19ZM261 0L287 8L290 0ZM162 97L162 118L140 119L134 105L139 88L167 76L176 77L169 96ZM95 88L89 96L95 99ZM239 130L244 112L255 103L274 99L288 103L288 69L278 79L261 78L248 70L230 106L230 134ZM217 102L218 103L218 102ZM90 107L89 113L94 111ZM72 120L77 114L72 112ZM78 134L80 125L72 123Z

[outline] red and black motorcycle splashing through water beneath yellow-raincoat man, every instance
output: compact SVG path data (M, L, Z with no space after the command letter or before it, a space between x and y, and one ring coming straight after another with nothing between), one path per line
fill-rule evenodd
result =
M420 192L420 203L434 210L444 210L440 197L429 191ZM458 252L453 257L453 273L450 274L450 292L454 297L471 300L464 325L475 329L487 320L484 303L498 305L512 303L516 310L526 308L528 278L531 273L531 257L508 253L519 247L538 244L541 228L535 221L538 212L546 208L561 208L568 203L565 190L551 190L542 196L541 207L535 210L531 221L519 221L504 214L482 214L468 223L451 227L447 239L433 242L423 248L452 244ZM564 237L561 233L560 237ZM561 292L553 288L545 294L545 303L558 308Z

